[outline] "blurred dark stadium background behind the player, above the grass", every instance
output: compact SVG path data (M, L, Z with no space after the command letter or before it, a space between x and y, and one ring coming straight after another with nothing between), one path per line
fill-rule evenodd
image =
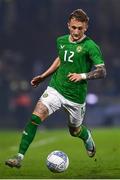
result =
M0 128L22 129L49 79L38 88L30 80L55 57L56 38L68 33L69 14L82 8L90 17L87 35L101 47L107 78L89 82L85 123L120 125L120 1L0 0ZM65 127L64 111L43 128Z

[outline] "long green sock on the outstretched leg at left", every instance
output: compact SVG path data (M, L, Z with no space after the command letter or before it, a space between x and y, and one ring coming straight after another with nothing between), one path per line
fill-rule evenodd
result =
M41 122L42 121L38 116L32 114L31 121L28 122L28 124L25 127L25 130L23 131L21 143L19 146L20 154L24 155L25 152L27 151L29 145L31 144L31 142L33 141L35 137L37 127Z

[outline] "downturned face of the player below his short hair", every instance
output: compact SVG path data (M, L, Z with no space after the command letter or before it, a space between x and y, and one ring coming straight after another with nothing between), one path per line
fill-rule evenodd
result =
M68 28L70 30L71 40L78 41L83 37L85 31L87 30L87 24L86 22L81 22L73 18L68 23Z

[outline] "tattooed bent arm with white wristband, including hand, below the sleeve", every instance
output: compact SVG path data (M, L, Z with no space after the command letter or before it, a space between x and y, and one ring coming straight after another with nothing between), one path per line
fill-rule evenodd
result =
M70 81L78 82L85 79L100 79L106 77L106 68L105 65L97 65L95 66L95 69L88 72L88 73L69 73L68 78Z

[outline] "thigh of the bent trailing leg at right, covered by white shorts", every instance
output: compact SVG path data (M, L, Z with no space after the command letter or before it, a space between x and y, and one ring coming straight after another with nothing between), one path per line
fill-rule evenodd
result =
M84 104L69 104L66 106L69 112L68 126L79 127L84 119L86 105Z

